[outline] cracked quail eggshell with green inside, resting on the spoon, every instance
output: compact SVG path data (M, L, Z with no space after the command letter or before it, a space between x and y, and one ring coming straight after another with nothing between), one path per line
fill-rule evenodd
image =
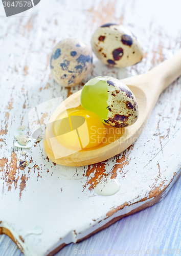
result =
M80 102L84 109L96 113L110 126L121 128L138 119L138 104L133 93L113 77L99 76L86 82Z

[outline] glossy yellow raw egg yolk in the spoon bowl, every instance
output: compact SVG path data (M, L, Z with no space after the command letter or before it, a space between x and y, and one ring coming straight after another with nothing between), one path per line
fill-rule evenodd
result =
M106 136L100 117L83 108L61 113L54 121L53 132L61 145L72 150L98 146Z

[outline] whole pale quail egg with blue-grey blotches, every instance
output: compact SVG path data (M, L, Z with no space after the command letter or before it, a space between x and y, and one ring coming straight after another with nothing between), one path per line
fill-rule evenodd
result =
M92 50L84 42L74 38L64 39L52 51L51 73L61 86L72 87L86 78L92 62Z

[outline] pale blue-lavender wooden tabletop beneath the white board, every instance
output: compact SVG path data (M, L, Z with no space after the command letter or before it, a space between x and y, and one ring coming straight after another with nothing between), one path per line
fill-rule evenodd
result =
M116 222L83 242L67 245L56 256L73 256L76 250L80 250L80 255L83 255L82 251L94 249L97 252L97 250L104 251L109 248L119 251L122 249L126 252L131 250L131 255L135 255L134 250L142 252L136 255L145 255L145 250L150 250L151 254L154 249L160 251L163 249L166 252L165 249L169 248L172 249L171 255L173 255L174 248L181 248L180 186L181 179L179 178L160 203ZM159 214L157 214L158 212ZM5 235L0 236L0 252L2 256L24 255L17 249L16 244ZM164 255L167 254L164 253Z

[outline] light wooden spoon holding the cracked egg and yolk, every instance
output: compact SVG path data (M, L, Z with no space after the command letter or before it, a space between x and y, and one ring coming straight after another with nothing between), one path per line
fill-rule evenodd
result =
M44 150L46 151L47 156L57 164L67 166L83 166L104 161L121 153L138 139L160 94L180 75L181 51L145 74L122 79L121 81L130 88L137 99L139 106L138 120L133 125L125 127L123 135L108 145L95 149L93 148L89 151L79 152L74 152L62 147L59 149L59 151L65 154L63 157L58 158L52 151L52 142L50 143L49 131L52 132L51 124L60 114L60 112L65 109L78 107L80 105L81 90L71 95L58 106L49 120L48 125L50 125L50 129L49 131L48 129L46 130L46 135L44 138Z

